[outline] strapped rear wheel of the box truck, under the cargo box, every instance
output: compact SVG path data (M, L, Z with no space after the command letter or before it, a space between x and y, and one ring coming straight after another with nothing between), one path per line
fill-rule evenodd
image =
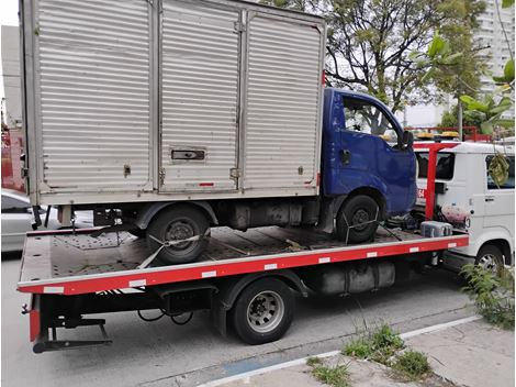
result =
M158 241L181 241L201 235L197 241L180 242L164 247L158 261L166 265L183 264L195 261L207 245L206 217L190 206L173 206L159 212L147 226L147 245L152 252L161 244ZM158 240L158 241L156 241Z

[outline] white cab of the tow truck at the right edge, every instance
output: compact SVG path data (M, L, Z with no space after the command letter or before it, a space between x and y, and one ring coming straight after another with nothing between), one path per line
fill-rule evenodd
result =
M419 166L417 188L419 208L425 206L428 150L416 148ZM496 153L509 163L507 181L497 187L487 174ZM436 170L436 220L467 230L469 246L451 248L444 265L459 270L476 263L495 270L498 265L514 265L514 151L487 143L458 143L441 150Z

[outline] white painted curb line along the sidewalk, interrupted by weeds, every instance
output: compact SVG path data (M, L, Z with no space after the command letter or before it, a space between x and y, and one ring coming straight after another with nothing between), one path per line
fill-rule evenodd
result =
M402 339L414 338L414 336L419 335L419 334L441 331L441 330L447 329L447 328L451 328L451 327L456 327L456 325L460 325L460 324L465 324L468 322L476 321L476 320L480 320L480 319L482 319L482 316L471 316L471 317L468 317L468 318L464 318L464 319L453 320L453 321L445 322L445 323L441 323L441 324L436 324L436 325L426 327L426 328L423 328L423 329L417 329L415 331L402 333L402 334L400 334L400 336ZM271 366L268 366L268 367L253 369L253 371L249 371L247 373L242 373L242 374L238 374L238 375L224 377L222 379L207 382L203 385L200 385L199 387L222 386L222 385L225 385L227 383L246 379L246 378L249 378L251 376L261 375L261 374L266 374L266 373L270 373L270 372L273 372L273 371L283 369L283 368L288 368L288 367L293 367L293 366L296 366L296 365L304 365L304 364L306 364L306 361L310 357L325 358L325 357L336 356L338 354L340 354L340 351L330 351L330 352L321 353L318 355L301 357L301 358L296 358L296 360L293 360L293 361L290 361L290 362L279 363L279 364L274 364L274 365L271 365Z

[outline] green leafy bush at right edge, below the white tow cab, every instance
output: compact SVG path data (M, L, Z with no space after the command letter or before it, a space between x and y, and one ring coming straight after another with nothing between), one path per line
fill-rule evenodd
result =
M514 276L505 267L496 274L478 265L465 265L461 274L468 281L463 290L479 313L495 325L514 330Z

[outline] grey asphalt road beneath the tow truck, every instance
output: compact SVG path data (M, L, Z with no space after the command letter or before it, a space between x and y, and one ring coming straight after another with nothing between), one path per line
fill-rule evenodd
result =
M103 316L111 346L36 355L29 342L29 318L15 290L19 259L2 261L2 373L8 386L194 386L261 366L338 350L363 327L388 322L399 332L474 313L451 273L430 270L403 285L340 299L298 299L294 322L276 342L247 346L220 336L207 313L183 327L162 318L144 322L135 312ZM150 313L150 312L148 312ZM98 328L64 332L61 338L93 340Z

